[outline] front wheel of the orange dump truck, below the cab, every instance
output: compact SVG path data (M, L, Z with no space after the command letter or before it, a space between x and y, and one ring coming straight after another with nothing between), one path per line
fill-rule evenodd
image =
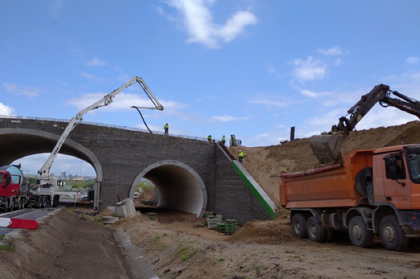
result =
M391 251L402 251L408 246L408 238L396 216L386 216L379 224L382 245Z

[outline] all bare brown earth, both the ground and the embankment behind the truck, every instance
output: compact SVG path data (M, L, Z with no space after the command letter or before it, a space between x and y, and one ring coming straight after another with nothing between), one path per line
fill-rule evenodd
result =
M344 155L419 139L420 123L411 122L352 133L341 150ZM246 155L244 167L277 205L281 170L319 165L308 139L240 148ZM229 150L237 155L239 147ZM404 252L387 251L378 239L372 248L354 247L338 234L331 243L315 243L294 237L289 213L281 208L276 220L249 221L225 235L197 226L204 218L142 206L140 200L151 197L143 193L135 202L137 216L112 225L98 222L109 212L77 217L78 209L66 209L44 218L37 230L7 236L1 243L12 250L0 250L1 278L134 278L113 237L122 228L161 279L420 279L419 240ZM157 213L157 220L149 220L148 212Z

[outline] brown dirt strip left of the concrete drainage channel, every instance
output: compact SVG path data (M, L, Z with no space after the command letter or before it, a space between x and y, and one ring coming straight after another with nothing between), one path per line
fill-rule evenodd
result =
M36 230L7 234L0 247L11 250L0 249L0 278L132 279L113 231L77 211L86 209L61 210Z

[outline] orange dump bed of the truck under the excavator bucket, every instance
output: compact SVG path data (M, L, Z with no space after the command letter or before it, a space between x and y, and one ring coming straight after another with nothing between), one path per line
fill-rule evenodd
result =
M280 175L280 205L286 209L353 207L367 203L355 187L357 173L372 167L374 150L353 151L343 165Z

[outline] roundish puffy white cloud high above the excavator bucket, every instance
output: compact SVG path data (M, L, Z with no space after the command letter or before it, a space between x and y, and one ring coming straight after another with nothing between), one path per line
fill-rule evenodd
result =
M311 56L306 61L296 59L291 64L295 66L293 76L300 82L323 79L327 73L326 64Z

